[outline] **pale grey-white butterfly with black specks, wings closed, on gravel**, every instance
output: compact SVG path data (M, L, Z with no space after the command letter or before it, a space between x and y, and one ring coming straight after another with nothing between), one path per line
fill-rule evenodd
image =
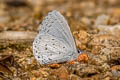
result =
M71 61L79 55L65 18L56 10L48 13L33 41L33 54L40 64Z

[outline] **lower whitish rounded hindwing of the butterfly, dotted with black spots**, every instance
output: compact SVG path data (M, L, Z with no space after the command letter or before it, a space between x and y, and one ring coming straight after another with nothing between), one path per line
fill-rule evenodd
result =
M37 35L33 45L34 56L40 64L60 63L74 59L74 52L70 50L69 45L51 35Z

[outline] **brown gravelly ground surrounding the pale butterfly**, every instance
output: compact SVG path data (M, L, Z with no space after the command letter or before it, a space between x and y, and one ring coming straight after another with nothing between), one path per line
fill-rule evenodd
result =
M119 4L119 0L1 0L0 80L119 80ZM33 39L52 10L68 21L77 48L88 56L85 61L51 67L34 58Z

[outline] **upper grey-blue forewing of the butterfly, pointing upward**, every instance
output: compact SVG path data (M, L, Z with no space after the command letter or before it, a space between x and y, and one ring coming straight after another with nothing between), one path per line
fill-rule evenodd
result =
M65 40L66 43L71 46L71 49L77 52L68 23L56 10L49 12L48 16L45 17L41 25L40 33L50 34L56 38Z

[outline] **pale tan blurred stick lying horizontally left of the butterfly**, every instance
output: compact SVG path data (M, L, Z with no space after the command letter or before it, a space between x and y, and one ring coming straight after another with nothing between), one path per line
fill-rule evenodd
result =
M0 48L10 45L31 45L36 32L4 31L0 33Z

